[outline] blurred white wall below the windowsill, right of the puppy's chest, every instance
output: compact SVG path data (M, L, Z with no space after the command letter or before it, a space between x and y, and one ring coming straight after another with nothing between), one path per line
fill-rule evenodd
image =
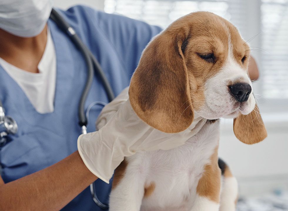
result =
M263 114L268 137L254 145L236 139L232 120L225 120L225 124L222 121L219 156L237 177L240 195L288 190L287 116L284 113Z

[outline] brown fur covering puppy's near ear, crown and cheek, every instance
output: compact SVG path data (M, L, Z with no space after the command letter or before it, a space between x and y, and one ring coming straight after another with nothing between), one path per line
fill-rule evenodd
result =
M164 132L189 127L194 109L205 103L205 82L227 59L230 33L241 62L245 42L230 22L213 13L190 13L153 38L130 83L129 99L136 114ZM215 61L199 56L206 53L213 53Z

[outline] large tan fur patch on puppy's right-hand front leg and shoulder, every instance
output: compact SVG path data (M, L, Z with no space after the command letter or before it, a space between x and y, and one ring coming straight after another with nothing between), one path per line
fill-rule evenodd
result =
M210 200L220 202L221 171L218 166L218 147L210 157L210 163L205 166L204 173L197 185L197 193Z

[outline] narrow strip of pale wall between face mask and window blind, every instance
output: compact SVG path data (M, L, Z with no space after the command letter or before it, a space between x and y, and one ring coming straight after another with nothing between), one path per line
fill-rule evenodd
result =
M61 9L67 9L77 4L87 5L98 10L104 10L104 0L54 0L54 6Z

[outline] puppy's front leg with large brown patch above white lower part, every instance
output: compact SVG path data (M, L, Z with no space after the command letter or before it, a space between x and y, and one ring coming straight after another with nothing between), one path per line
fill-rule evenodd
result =
M218 211L220 203L221 171L218 166L218 147L205 166L200 178L196 198L191 211Z

